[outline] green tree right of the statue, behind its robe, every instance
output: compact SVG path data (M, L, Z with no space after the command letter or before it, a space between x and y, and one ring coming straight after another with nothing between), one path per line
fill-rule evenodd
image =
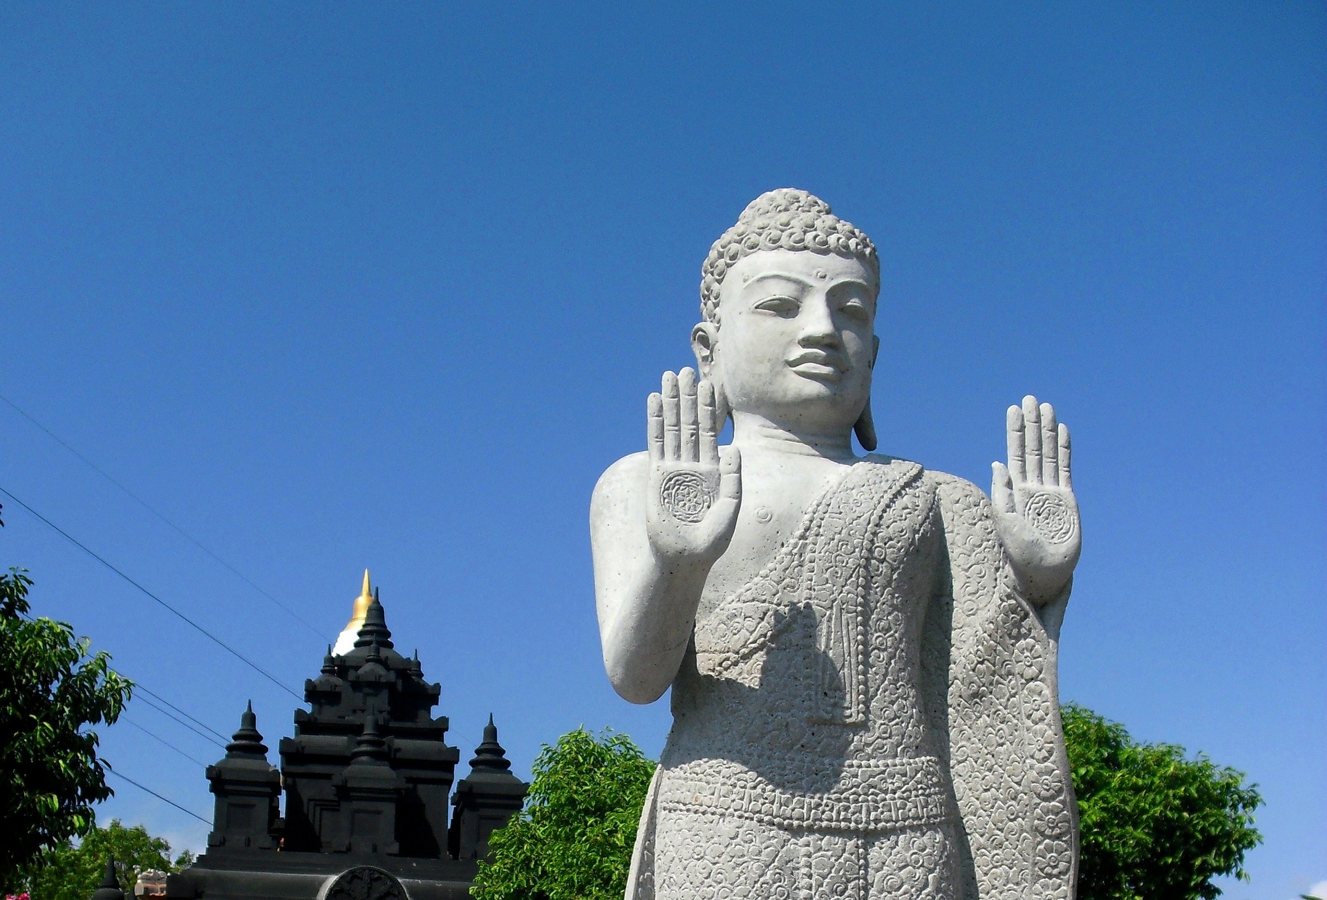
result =
M1079 900L1213 900L1214 876L1247 880L1262 797L1243 773L1137 742L1076 704L1063 716L1083 835Z

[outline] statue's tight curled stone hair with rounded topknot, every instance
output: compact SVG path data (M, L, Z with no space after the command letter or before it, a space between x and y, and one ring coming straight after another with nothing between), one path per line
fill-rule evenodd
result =
M747 204L738 223L714 241L701 266L701 315L719 321L719 285L743 256L759 251L811 251L857 257L880 281L876 245L849 221L833 215L829 204L809 191L780 187Z

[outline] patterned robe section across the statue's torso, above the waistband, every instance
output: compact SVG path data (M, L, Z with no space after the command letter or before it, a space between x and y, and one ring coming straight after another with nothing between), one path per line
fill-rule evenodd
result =
M702 603L705 679L693 693L775 717L796 701L808 728L920 714L920 628L940 573L934 492L914 464L863 463L805 506L790 539L733 565L726 575L742 583Z

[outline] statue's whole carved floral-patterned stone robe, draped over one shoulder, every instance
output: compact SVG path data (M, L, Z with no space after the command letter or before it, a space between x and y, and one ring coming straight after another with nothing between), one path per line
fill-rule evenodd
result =
M849 467L699 610L628 900L1070 900L1067 598L1019 595L975 485Z

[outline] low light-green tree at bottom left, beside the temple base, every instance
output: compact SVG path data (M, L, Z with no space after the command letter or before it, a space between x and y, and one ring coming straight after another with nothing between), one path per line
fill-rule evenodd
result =
M32 900L88 900L106 876L109 856L115 858L115 875L125 896L133 896L134 881L143 871L178 872L194 862L187 850L171 862L165 839L151 836L141 824L126 828L119 819L111 819L106 828L93 826L77 846L65 840L44 851L28 867L21 889Z

